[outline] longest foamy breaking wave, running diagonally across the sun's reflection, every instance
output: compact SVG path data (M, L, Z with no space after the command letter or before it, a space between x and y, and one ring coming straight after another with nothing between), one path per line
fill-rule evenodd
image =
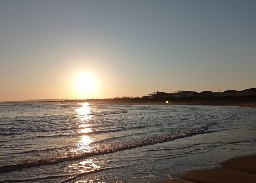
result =
M0 167L0 173L10 172L16 169L21 168L29 168L29 167L35 167L35 166L41 166L41 165L48 165L48 164L55 164L60 163L64 161L69 160L75 160L75 159L81 159L81 158L87 158L90 156L96 156L96 155L103 155L103 154L109 154L114 153L117 151L123 151L127 149L133 149L137 147L143 147L147 145L153 145L157 143L162 143L166 141L173 141L176 139L200 134L201 132L208 129L207 125L193 128L187 131L178 132L175 134L170 135L159 135L154 138L144 138L144 139L136 139L134 141L127 141L127 142L113 142L108 143L108 145L102 145L102 144L95 144L95 148L92 152L88 153L80 153L80 154L68 154L68 155L62 155L60 157L52 157L49 159L40 159L35 160L31 162L24 162L14 165L5 165Z

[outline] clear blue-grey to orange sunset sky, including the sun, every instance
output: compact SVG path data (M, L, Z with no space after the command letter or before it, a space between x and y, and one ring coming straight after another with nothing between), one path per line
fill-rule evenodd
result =
M256 87L256 1L0 0L0 101Z

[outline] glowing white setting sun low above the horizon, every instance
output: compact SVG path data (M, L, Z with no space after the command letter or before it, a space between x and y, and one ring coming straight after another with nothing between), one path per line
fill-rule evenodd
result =
M75 92L79 97L88 97L96 90L96 78L91 73L79 73L75 77Z

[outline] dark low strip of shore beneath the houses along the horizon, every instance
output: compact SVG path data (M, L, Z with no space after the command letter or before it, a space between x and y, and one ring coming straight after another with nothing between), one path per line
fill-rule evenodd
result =
M168 101L168 103L166 103ZM239 106L256 108L256 95L238 97L188 97L188 98L109 98L109 99L84 99L84 100L42 100L42 101L10 101L10 102L40 102L40 103L101 103L113 105L204 105L204 106Z

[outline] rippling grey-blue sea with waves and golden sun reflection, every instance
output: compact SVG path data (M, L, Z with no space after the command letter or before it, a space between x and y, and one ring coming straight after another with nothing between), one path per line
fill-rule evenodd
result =
M0 182L158 182L256 153L256 108L0 103Z

